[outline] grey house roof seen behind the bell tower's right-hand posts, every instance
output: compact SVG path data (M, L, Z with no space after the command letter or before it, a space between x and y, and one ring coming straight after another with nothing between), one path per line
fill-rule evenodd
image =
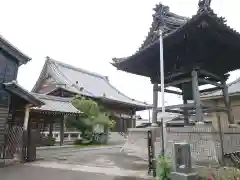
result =
M240 93L240 78L238 78L237 80L228 84L228 94L231 96L231 95L235 95L236 93ZM223 95L222 91L217 90L214 92L201 94L201 98L202 99L212 99L212 98L221 97L222 95Z

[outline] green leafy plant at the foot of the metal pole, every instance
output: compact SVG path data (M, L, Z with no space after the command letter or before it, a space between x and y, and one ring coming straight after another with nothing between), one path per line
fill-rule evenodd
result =
M171 163L167 157L159 156L157 159L157 175L160 180L170 180Z

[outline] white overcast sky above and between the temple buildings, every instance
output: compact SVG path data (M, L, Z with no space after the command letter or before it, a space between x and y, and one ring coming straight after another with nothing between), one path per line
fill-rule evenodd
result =
M113 57L133 54L152 22L152 8L159 0L0 0L0 34L32 58L20 68L18 82L31 90L45 57L109 76L120 91L152 103L148 78L117 71ZM197 11L198 0L162 0L184 16ZM240 31L238 0L212 0L211 7ZM238 77L232 73L230 81ZM97 88L97 87L96 87ZM166 95L168 104L180 102ZM148 113L141 113L148 117Z

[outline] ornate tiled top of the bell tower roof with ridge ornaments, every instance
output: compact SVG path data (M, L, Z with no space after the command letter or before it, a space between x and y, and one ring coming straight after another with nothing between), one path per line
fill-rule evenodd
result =
M239 38L239 33L226 24L225 18L218 17L217 14L215 14L210 7L210 3L210 0L200 0L198 12L191 18L174 14L169 10L168 6L164 6L161 3L156 5L149 33L139 50L127 57L113 58L111 64L118 68L121 63L127 60L137 59L137 56L159 44L159 33L157 33L159 30L163 32L163 39L167 39L175 33L187 29L191 24L194 24L194 22L197 22L197 20L200 20L202 17L209 17L214 24L221 27L222 31L227 31ZM204 26L204 23L200 25ZM121 68L118 69L121 70Z

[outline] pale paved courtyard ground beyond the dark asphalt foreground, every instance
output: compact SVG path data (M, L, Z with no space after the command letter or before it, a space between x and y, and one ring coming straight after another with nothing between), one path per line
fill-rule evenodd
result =
M46 168L49 171L63 170L75 173L96 174L115 179L151 179L147 175L147 162L141 158L120 152L120 147L101 148L89 151L75 149L44 151L45 159L26 164L29 168ZM129 179L129 180L130 180ZM35 179L36 180L36 179Z

